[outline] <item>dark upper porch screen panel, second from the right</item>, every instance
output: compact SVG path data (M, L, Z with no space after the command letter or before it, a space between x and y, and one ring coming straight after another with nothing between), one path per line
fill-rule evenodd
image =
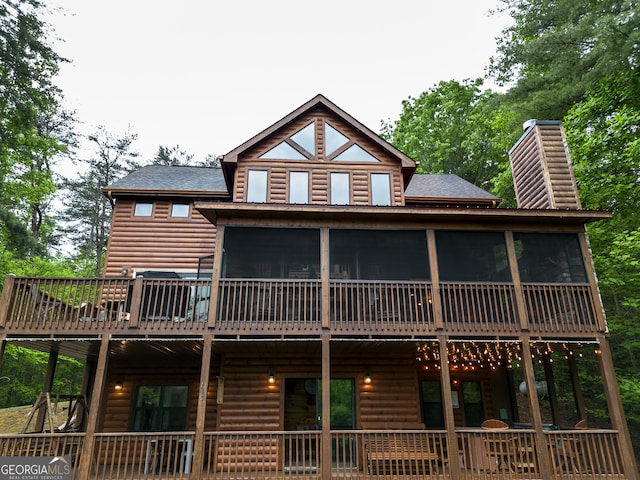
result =
M440 280L510 282L507 247L501 232L436 232Z

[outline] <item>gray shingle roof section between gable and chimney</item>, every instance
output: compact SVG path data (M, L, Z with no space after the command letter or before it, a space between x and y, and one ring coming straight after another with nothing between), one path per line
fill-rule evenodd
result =
M405 197L498 200L498 197L453 174L415 174Z

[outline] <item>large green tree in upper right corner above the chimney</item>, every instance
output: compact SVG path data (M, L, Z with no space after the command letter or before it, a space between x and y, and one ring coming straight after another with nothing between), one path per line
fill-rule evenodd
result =
M640 62L640 4L635 0L502 0L514 23L498 38L489 73L510 86L518 123L562 119L607 75Z

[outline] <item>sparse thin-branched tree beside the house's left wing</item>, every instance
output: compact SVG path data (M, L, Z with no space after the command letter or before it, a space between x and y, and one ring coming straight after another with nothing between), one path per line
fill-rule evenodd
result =
M81 162L86 168L84 173L65 182L66 208L61 219L66 222L66 232L78 259L92 262L96 277L102 271L111 224L111 204L102 187L139 168L135 161L138 153L133 148L136 138L130 131L115 136L103 126L98 127L89 137L96 146L95 155Z

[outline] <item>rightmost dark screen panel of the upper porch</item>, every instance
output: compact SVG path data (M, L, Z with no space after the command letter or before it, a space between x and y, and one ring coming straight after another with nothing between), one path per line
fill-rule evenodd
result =
M514 233L523 282L585 283L578 236L572 233Z

